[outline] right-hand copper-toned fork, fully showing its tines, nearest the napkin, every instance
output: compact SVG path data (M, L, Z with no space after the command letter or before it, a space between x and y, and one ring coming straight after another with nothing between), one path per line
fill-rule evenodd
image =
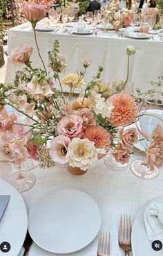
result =
M119 246L129 256L131 250L131 218L128 215L121 215L119 223Z

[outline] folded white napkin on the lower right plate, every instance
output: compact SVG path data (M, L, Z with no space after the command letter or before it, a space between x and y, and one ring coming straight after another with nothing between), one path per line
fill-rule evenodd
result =
M153 202L144 212L146 233L150 241L163 241L163 204Z

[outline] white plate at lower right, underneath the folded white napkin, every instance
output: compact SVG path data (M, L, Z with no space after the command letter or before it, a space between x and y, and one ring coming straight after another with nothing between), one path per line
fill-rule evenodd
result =
M144 212L151 202L159 202L163 204L163 195L149 200L137 214L133 223L132 230L132 251L133 256L162 256L163 248L160 251L155 251L151 247L151 241L146 234L146 228L144 225ZM163 237L162 237L163 244Z

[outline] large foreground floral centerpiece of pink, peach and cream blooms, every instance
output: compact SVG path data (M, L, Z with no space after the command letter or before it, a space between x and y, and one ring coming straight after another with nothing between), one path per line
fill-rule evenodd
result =
M39 5L26 5L23 13L32 24L37 44L35 26L44 17L45 10ZM37 49L39 53L38 44ZM128 61L134 53L134 46L128 46ZM9 61L26 67L17 71L12 84L0 85L1 160L21 163L32 157L39 161L40 167L52 167L57 162L85 172L111 151L118 162L128 162L138 134L136 128L126 129L125 126L140 118L145 96L155 91L137 91L135 96L130 96L123 92L128 74L125 82L115 80L111 87L100 80L102 67L98 67L97 74L86 85L84 76L92 64L90 60L83 60L82 71L77 70L60 79L59 75L66 71L67 58L59 52L57 40L52 51L48 51L53 78L60 85L60 89L56 89L40 53L44 70L32 68L31 54L32 47L28 45L14 49ZM68 96L64 95L64 86L70 88ZM81 88L81 94L73 99L76 88ZM16 112L9 114L6 105ZM18 113L26 119L21 121ZM156 129L159 129L159 137L155 130L155 157L162 159L162 128ZM146 154L149 159L151 146L146 149ZM151 164L160 167L162 161L156 161L152 156Z

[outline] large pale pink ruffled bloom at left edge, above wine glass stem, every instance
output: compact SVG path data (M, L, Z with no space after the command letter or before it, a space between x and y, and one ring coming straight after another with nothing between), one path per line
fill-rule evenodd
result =
M0 158L1 161L14 162L20 164L28 159L27 149L25 147L26 137L15 139L13 134L3 134L0 137Z

